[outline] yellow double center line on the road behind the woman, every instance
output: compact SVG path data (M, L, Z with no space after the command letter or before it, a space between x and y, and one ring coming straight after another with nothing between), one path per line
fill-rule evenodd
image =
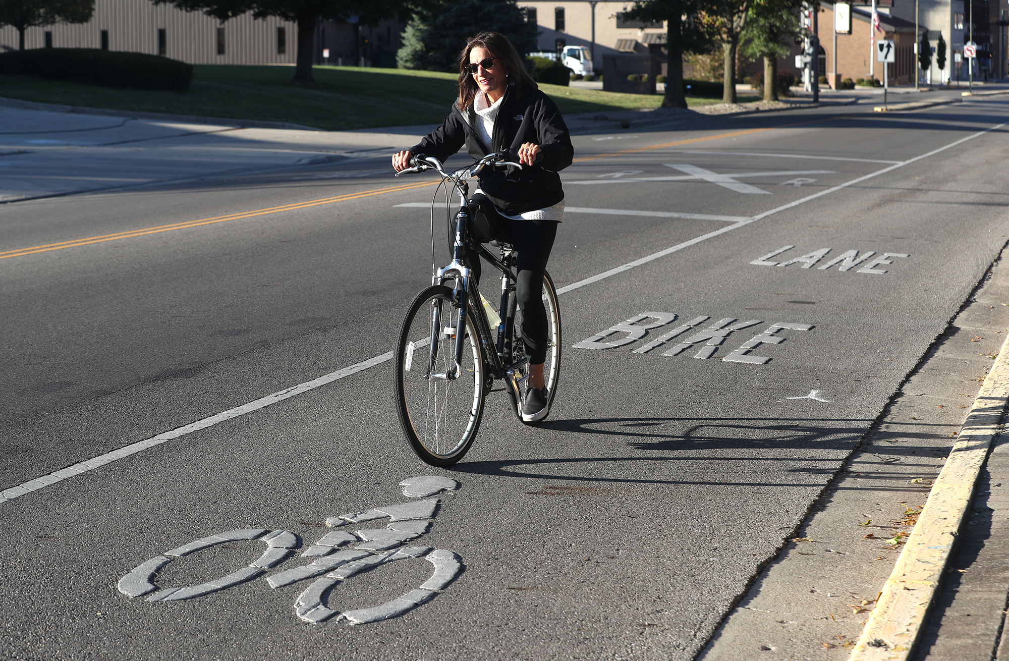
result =
M803 123L816 123L813 122L803 122ZM788 126L796 126L799 124L790 124ZM718 133L716 135L707 135L704 137L693 137L685 140L676 140L673 142L663 142L661 144L652 144L644 147L634 147L632 149L622 149L620 151L611 151L608 153L601 153L594 156L583 156L581 158L575 158L574 162L584 162L586 160L598 160L600 158L609 158L612 156L622 156L630 153L640 153L642 151L652 151L655 149L664 149L667 147L675 147L683 144L693 144L695 142L704 142L707 140L720 140L727 137L738 137L740 135L751 135L753 133L762 133L764 131L773 131L776 128L787 128L787 126L780 127L770 127L770 128L751 128L743 131L734 131L731 133ZM405 184L403 186L394 186L390 188L376 189L374 191L363 191L361 193L348 193L345 195L340 195L332 198L323 198L321 200L310 200L308 202L296 202L293 204L286 204L279 207L269 207L267 209L257 209L254 211L246 211L240 213L229 214L227 216L214 216L213 218L201 218L199 220L188 220L181 223L175 223L172 225L158 225L155 227L146 227L141 229L130 230L126 232L117 232L115 234L102 234L100 236L89 236L86 238L75 239L72 241L63 241L61 243L47 243L45 245L35 245L28 248L20 248L17 250L8 250L6 252L0 252L0 259L8 259L10 257L21 257L28 254L35 254L38 252L48 252L50 250L62 250L64 248L74 248L82 245L91 245L92 243L103 243L105 241L117 241L119 239L134 238L137 236L146 236L147 234L157 234L159 232L171 232L177 229L187 229L190 227L199 227L200 225L212 225L214 223L223 223L229 220L239 220L241 218L252 218L254 216L265 216L274 213L281 213L284 211L295 211L298 209L307 209L309 207L317 207L324 204L333 204L335 202L346 202L348 200L358 200L360 198L367 198L374 195L384 195L386 193L398 193L400 191L409 191L416 188L424 188L427 186L435 186L439 182L423 182L415 184Z

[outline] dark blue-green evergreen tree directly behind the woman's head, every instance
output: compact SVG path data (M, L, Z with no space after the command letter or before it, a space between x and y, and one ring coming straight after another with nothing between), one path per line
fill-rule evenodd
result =
M477 32L500 32L521 53L536 50L538 30L516 0L442 0L419 11L403 33L404 69L459 71L459 51Z

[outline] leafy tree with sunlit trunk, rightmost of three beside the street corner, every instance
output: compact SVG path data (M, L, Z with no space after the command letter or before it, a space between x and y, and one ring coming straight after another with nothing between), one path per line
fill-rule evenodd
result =
M792 39L802 31L801 0L753 0L744 30L749 41L743 53L764 59L764 100L778 100L778 58L791 51Z

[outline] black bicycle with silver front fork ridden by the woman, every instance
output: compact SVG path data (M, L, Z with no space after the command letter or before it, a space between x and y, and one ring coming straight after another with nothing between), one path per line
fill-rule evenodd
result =
M434 211L432 211L431 287L417 295L407 309L396 348L397 412L414 452L426 463L449 466L459 461L472 445L483 416L487 394L495 380L502 380L512 398L515 414L522 420L522 387L529 378L529 357L521 333L521 312L516 305L516 251L508 243L488 242L499 248L499 256L470 236L470 221L482 213L468 199L467 180L487 167L517 167L506 160L507 152L490 153L471 166L446 172L434 157L417 154L411 168L397 176L435 170L446 187L459 197L459 209L449 228L452 261L442 268L434 256ZM440 187L439 187L440 188ZM437 198L437 191L435 197ZM432 209L434 205L432 205ZM479 237L487 238L487 237ZM499 311L494 312L480 296L466 257L483 257L501 272ZM451 284L451 286L449 286ZM547 310L548 348L546 387L548 407L556 395L561 358L561 320L557 290L549 273L543 278ZM491 320L495 319L491 331ZM527 423L529 424L529 423Z

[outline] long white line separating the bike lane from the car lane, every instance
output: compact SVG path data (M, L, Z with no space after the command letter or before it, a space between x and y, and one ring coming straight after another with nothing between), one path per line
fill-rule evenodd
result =
M642 264L646 264L649 261L653 261L655 259L658 259L659 257L664 257L664 256L666 256L668 254L672 254L673 252L676 252L678 250L682 250L683 248L689 247L691 245L695 245L697 243L700 243L701 241L705 241L705 240L707 240L709 238L712 238L714 236L718 236L719 234L724 234L725 232L731 232L734 229L738 229L738 228L743 227L745 225L749 225L750 223L753 223L753 222L756 222L758 220L767 218L768 216L772 216L772 215L774 215L776 213L785 211L787 209L791 209L793 207L797 207L800 204L805 204L806 202L809 202L811 200L815 200L816 198L823 197L824 195L828 195L830 193L834 193L834 192L839 191L842 189L848 188L849 186L854 186L854 185L859 184L861 182L864 182L866 180L873 179L874 177L879 177L880 175L885 175L886 173L889 173L889 172L891 172L893 170L896 170L898 168L902 168L904 166L908 166L908 164L910 164L912 162L916 162L918 160L921 160L922 158L927 158L929 156L933 156L936 153L940 153L942 151L945 151L946 149L955 147L958 144L963 144L964 142L967 142L968 140L973 140L974 138L979 137L981 135L984 135L985 133L989 133L991 131L998 130L998 129L1002 128L1003 126L1006 126L1007 124L1009 124L1009 122L1003 122L1001 124L996 124L995 126L992 126L990 128L986 128L983 131L978 131L977 133L972 133L971 135L968 135L966 137L962 137L961 139L956 140L954 142L950 142L949 144L946 144L944 146L938 147L937 149L932 149L928 153L923 153L920 156L915 156L913 158L909 158L907 160L903 160L901 162L898 162L898 163L895 163L893 166L890 166L889 168L884 168L883 170L878 170L875 173L870 173L868 175L864 175L864 176L859 177L857 179L853 179L850 182L846 182L844 184L838 184L837 186L834 186L833 188L829 188L829 189L820 191L818 193L813 193L812 195L807 195L806 197L801 198L799 200L796 200L795 202L789 202L788 204L784 204L784 205L782 205L780 207L776 207L776 208L771 209L769 211L765 211L763 213L757 214L753 218L748 218L748 219L740 221L738 223L734 223L732 225L727 225L725 227L722 227L721 229L717 229L717 230L715 230L713 232L708 232L707 234L704 234L702 236L698 236L697 238L690 239L689 241L684 241L683 243L678 243L678 244L676 244L674 246L668 247L665 250L659 250L658 252L653 252L652 254L650 254L648 256L642 257L641 259L635 259L634 261L629 261L626 264L623 264L621 266L616 266L615 268L610 268L609 270L601 272L601 273L599 273L597 276L592 276L590 278L586 278L585 280L580 280L577 283L572 283L571 285L568 285L567 287L562 287L561 289L557 290L557 294L566 294L567 292L572 292L574 290L577 290L577 289L580 289L582 287L585 287L586 285L591 285L592 283L597 283L597 282L599 282L601 280L609 278L610 276L615 276L618 273L623 273L626 270L630 270L630 269L635 268L637 266L640 266ZM171 440L179 438L181 436L185 436L187 434L190 434L192 432L195 432L195 431L198 431L198 430L201 430L201 429L207 429L208 427L213 427L214 425L216 425L218 423L222 423L225 420L231 420L232 418L237 418L238 416L245 415L246 413L250 413L252 411L258 411L259 409L262 409L264 407L268 407L269 405L275 404L276 402L283 402L284 400L287 400L288 398L295 397L296 395L301 395L302 393L307 393L308 391L317 389L317 388L319 388L321 385L325 385L327 383L332 383L333 381L339 380L339 379L344 378L346 376L350 376L351 374L356 374L357 372L364 371L365 369L369 369L370 367L374 367L375 365L379 365L379 364L381 364L383 362L386 362L386 361L390 360L391 358L393 358L393 352L391 351L386 351L385 353L382 353L381 355L377 355L377 356L375 356L373 358L369 358L369 359L364 360L362 362L358 362L356 364L350 365L349 367L345 367L344 369L340 369L338 371L331 372L331 373L326 374L324 376L320 376L318 378L314 378L314 379L312 379L310 381L306 381L304 383L300 383L298 385L295 385L293 388L289 388L289 389L281 391L278 393L273 393L272 395L267 395L264 398L260 398L258 400L255 400L254 402L249 402L248 404L244 404L244 405L242 405L240 407L236 407L234 409L229 409L228 411L224 411L222 413L219 413L216 416L211 416L209 418L204 418L203 420L198 420L198 421L196 421L194 423L186 425L185 427L180 427L178 429L174 429L172 431L164 432L163 434L158 434L157 436L148 438L148 439L146 439L144 441L139 441L137 443L133 443L131 445L127 445L126 447L119 448L118 450L113 450L112 452L106 452L105 454L101 454L101 455L99 455L97 457L94 457L92 459L88 459L87 461L82 461L80 463L76 463L73 466L69 466L69 467L64 468L62 470L57 470L55 472L51 472L51 473L49 473L47 475L42 475L42 476L37 477L35 479L32 479L32 480L29 480L27 482L23 482L21 484L18 484L17 486L12 486L12 487L10 487L8 489L5 489L2 492L0 492L0 505L2 505L4 503L9 503L10 501L13 501L16 498L24 495L25 493L30 493L32 491L38 490L38 489L42 488L43 486L48 486L49 484L54 484L57 482L63 481L64 479L67 479L68 477L73 477L73 476L76 476L76 475L80 475L82 473L88 472L89 470L93 470L94 468L97 468L98 466L104 466L105 464L111 463L113 461L116 461L117 459L122 459L123 457L127 457L127 456L129 456L131 454L136 454L137 452L141 452L143 450L146 450L147 448L154 447L155 445L160 445L161 443L164 443L166 441L171 441Z

